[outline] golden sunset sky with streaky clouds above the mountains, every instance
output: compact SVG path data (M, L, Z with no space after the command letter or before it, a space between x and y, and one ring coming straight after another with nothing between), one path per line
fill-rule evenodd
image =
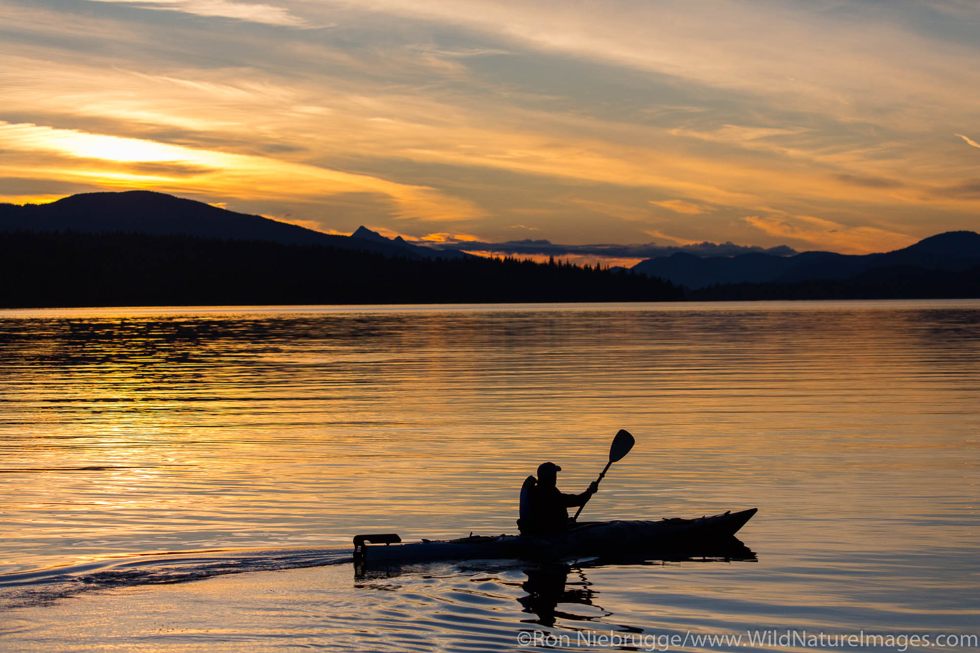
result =
M980 226L973 0L0 0L0 201L412 239L885 251Z

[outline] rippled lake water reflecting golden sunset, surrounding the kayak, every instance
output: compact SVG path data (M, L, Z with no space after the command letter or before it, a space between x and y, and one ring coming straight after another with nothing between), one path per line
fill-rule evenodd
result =
M0 649L972 650L978 390L977 301L0 311ZM583 518L757 559L355 575L618 428Z

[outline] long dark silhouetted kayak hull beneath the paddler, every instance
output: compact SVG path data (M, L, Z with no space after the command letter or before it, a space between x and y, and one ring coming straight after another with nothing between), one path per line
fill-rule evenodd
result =
M758 508L693 520L589 522L549 535L473 535L402 543L396 533L358 535L357 560L424 562L472 559L563 560L694 550L726 544ZM738 540L734 540L738 541Z

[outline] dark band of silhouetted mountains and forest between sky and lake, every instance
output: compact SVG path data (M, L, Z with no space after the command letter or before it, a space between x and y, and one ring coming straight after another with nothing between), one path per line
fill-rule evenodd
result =
M327 234L150 191L0 205L0 231L3 272L21 279L4 306L948 298L977 296L980 269L972 231L865 255L682 250L625 270Z

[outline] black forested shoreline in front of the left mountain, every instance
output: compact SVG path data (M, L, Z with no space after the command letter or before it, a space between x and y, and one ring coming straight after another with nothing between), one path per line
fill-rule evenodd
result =
M0 274L5 308L683 298L668 281L601 266L122 232L0 233Z

